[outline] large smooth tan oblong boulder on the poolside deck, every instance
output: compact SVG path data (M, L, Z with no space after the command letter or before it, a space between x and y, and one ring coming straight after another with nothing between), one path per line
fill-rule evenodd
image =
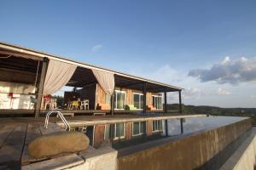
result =
M28 153L36 158L55 156L61 153L75 153L86 150L89 138L79 132L58 132L40 136L28 144Z

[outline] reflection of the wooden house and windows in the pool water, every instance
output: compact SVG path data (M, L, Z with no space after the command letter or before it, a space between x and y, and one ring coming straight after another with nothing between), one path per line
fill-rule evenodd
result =
M150 139L148 137L160 136L163 133L163 121L147 122L119 122L106 125L89 126L86 134L90 137L91 145L99 147L101 144L112 144Z

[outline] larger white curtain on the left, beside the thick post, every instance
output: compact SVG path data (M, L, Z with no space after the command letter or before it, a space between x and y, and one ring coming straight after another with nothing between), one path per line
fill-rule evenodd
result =
M49 59L43 94L54 94L65 86L73 76L76 68L77 65L71 65L54 59Z

